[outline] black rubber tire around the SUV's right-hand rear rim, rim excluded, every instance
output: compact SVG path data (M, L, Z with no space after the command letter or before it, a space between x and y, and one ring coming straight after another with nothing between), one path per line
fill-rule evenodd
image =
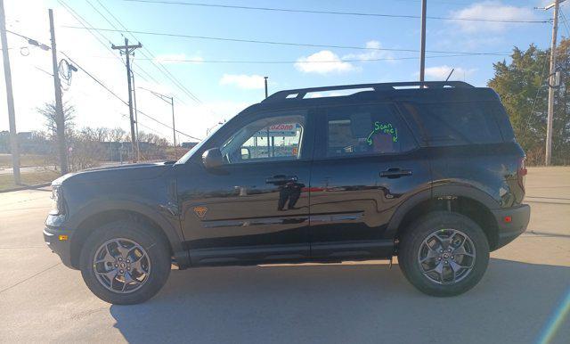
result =
M429 250L428 246L424 245L424 240L428 240L429 238L436 240L433 236L436 233L442 233L445 237L446 233L454 233L451 230L460 231L456 238L450 236L450 238L455 238L455 240L460 240L463 236L462 234L468 236L470 242L467 240L466 242L469 247L472 246L474 248L474 252L476 253L475 258L471 258L467 255L463 256L460 253L457 253L457 256L452 256L452 253L449 253L447 257L444 257L444 252L439 253L440 250L433 250L431 252L437 251L439 256L428 258L425 263L420 263L420 258L427 257L427 255L426 257L419 257L422 255L421 252L427 252ZM436 242L440 241L436 240ZM420 248L422 248L421 252ZM453 250L453 246L450 246L449 250ZM454 269L452 269L451 266L451 263L456 263L456 260L452 262L450 260L452 258L456 260L465 259L463 260L465 263L463 263L463 261L460 263L463 263L465 266L472 266L470 270L460 268L459 271L461 274L467 272L467 270L468 273L464 274L461 279L458 278L456 282L453 282L453 279L456 278L456 274L452 272ZM481 280L483 274L485 274L485 270L489 264L489 242L481 227L470 218L449 211L431 212L420 217L405 229L398 246L398 263L403 275L419 291L439 297L455 296L473 288L476 283ZM438 272L428 272L428 275L424 274L424 271L430 270L431 267L439 263L445 263L442 267L443 272L441 274ZM453 266L460 265L461 264L453 264Z

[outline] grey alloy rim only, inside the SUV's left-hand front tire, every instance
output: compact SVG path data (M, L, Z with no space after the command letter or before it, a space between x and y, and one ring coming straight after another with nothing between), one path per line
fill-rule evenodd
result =
M149 279L151 259L140 244L126 238L111 239L95 251L97 281L109 291L125 294L139 290Z

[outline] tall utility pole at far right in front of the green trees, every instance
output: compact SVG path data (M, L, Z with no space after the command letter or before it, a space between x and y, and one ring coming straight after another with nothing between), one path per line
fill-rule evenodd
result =
M544 7L545 10L550 10L554 7L553 19L552 19L552 42L550 44L550 74L549 74L549 112L546 124L546 154L544 164L546 166L550 165L550 159L552 157L552 122L554 119L554 91L556 84L556 38L558 35L558 8L560 3L565 0L555 0L554 4L549 4Z

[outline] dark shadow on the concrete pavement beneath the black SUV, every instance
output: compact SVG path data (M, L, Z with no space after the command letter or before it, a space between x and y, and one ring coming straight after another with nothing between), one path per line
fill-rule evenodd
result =
M570 267L494 258L455 298L421 294L398 266L208 267L174 270L154 299L110 313L129 342L532 343L569 283Z

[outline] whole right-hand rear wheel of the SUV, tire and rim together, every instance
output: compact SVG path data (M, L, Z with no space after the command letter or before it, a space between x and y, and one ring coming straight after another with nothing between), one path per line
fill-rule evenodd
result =
M489 263L489 243L473 220L438 211L420 217L403 235L398 262L419 291L455 296L473 288Z

